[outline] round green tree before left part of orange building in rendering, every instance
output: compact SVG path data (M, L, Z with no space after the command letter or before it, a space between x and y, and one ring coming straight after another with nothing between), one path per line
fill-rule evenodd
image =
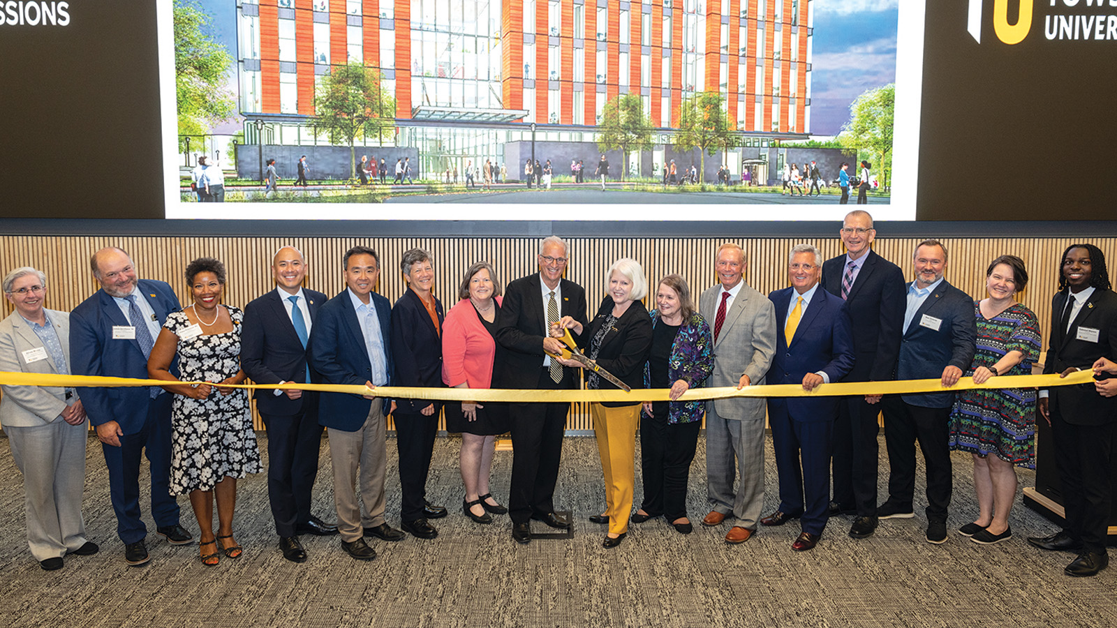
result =
M395 98L381 83L379 72L360 63L333 66L314 96L315 118L311 126L330 143L349 145L350 178L356 178L356 140L383 140L395 126Z

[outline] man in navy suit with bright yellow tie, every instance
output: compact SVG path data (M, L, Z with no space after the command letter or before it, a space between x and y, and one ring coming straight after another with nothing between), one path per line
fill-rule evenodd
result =
M791 249L791 287L768 295L775 307L776 345L768 383L814 390L837 382L853 368L853 336L844 302L819 288L822 255L811 245ZM801 517L791 544L811 550L827 526L830 505L830 450L839 397L773 397L767 401L772 445L780 474L780 507L761 520L783 525Z

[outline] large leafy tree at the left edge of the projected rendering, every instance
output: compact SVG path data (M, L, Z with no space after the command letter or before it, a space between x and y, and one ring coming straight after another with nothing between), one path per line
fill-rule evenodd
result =
M174 0L173 20L179 142L184 142L187 136L207 135L236 112L236 99L226 83L233 59L213 40L210 17L197 1Z

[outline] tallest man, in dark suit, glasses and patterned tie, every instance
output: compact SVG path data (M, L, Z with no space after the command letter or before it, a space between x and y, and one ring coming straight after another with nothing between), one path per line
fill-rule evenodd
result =
M873 253L877 230L860 209L846 215L838 232L846 255L822 264L822 287L846 302L853 325L857 359L843 382L892 379L904 325L904 273ZM877 530L879 397L846 397L838 407L833 440L833 499L830 516L853 513L855 539Z

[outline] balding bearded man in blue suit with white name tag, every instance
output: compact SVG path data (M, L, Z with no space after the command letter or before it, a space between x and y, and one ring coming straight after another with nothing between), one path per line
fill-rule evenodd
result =
M147 356L166 315L181 310L164 282L137 279L123 249L107 247L89 259L101 289L70 313L70 359L75 375L147 379ZM171 363L178 375L178 359ZM179 524L170 493L171 394L151 388L83 388L82 401L97 430L108 466L108 493L116 533L131 565L150 560L140 518L140 462L151 465L151 514L155 531L173 545L193 537Z

